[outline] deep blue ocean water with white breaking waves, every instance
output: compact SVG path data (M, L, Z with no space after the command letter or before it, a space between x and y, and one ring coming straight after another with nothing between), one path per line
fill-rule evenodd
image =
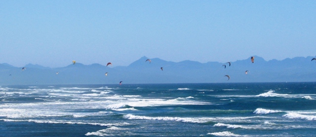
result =
M0 86L1 137L315 137L316 82Z

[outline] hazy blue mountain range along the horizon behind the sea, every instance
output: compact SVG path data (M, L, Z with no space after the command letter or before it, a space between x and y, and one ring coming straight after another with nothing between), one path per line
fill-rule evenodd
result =
M7 84L115 84L122 83L211 83L211 82L315 82L313 56L266 61L254 56L235 62L220 63L185 60L165 61L146 56L128 66L107 67L101 64L70 64L50 68L27 64L25 70L0 64L0 85ZM228 60L229 61L229 60ZM223 66L226 65L226 68ZM160 69L163 67L163 70ZM245 74L245 71L248 73ZM107 72L107 76L105 73ZM230 76L230 80L225 75Z

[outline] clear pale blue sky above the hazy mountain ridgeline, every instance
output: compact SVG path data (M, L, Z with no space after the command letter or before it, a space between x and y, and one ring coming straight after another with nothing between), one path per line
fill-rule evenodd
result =
M315 56L315 7L316 0L0 0L0 63Z

